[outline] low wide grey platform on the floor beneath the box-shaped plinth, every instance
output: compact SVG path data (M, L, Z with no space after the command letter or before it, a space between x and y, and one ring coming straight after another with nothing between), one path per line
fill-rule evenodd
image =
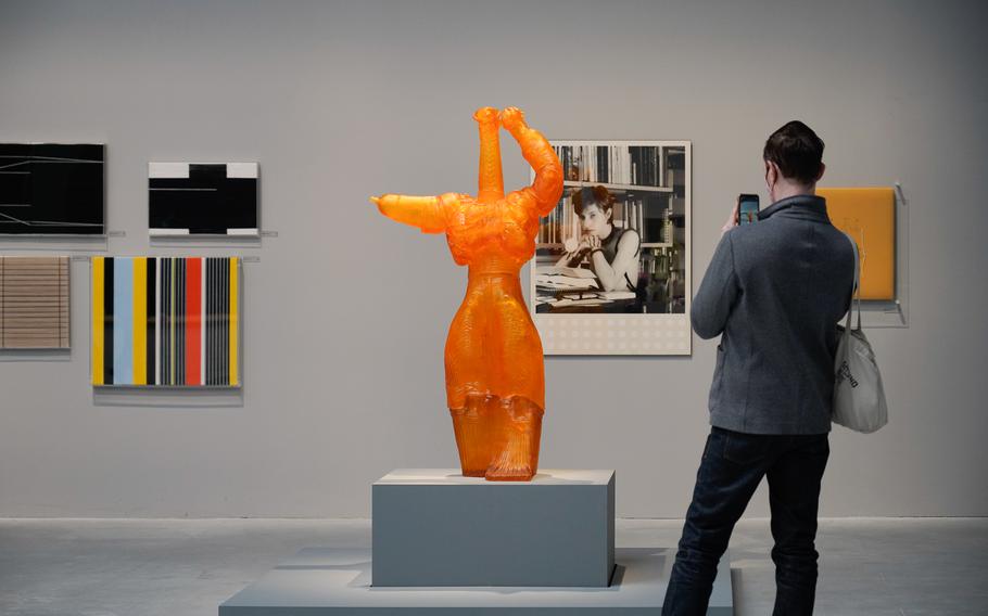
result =
M370 551L307 548L219 606L219 616L655 616L675 551L618 549L610 588L377 588ZM727 554L708 615L734 614Z

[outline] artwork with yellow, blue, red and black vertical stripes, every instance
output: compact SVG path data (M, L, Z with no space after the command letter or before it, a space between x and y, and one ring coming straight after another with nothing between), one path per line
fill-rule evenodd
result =
M239 387L238 257L93 257L92 384Z

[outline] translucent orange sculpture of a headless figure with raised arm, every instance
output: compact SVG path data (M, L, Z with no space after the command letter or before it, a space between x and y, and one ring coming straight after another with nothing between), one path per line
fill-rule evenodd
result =
M467 295L446 338L446 400L464 475L527 482L539 469L545 409L542 341L521 295L518 271L535 252L539 218L562 195L562 166L524 114L483 107L477 197L385 194L371 197L381 214L446 233L458 265L469 268ZM532 185L504 194L501 127L535 169Z

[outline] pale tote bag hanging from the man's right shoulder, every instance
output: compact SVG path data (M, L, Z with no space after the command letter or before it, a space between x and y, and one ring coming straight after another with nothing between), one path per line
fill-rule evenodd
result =
M851 293L847 322L843 328L834 361L836 380L833 420L834 423L856 432L871 433L888 423L888 407L885 403L882 374L875 362L875 351L861 331L861 288L858 286L861 259L854 240L850 235L848 240L854 246L854 291ZM854 301L858 303L858 328L851 329ZM837 329L841 330L839 325Z

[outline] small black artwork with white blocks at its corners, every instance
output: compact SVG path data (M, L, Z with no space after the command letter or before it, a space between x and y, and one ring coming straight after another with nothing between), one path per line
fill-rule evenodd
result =
M258 235L257 163L151 163L151 235Z

